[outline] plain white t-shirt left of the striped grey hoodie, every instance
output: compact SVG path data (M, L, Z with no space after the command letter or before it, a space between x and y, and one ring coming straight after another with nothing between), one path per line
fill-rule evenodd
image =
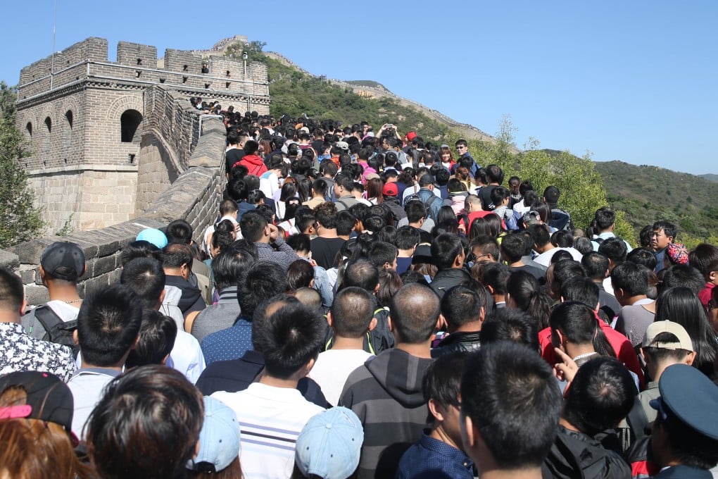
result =
M361 349L330 349L320 353L309 377L317 381L329 404L336 406L350 373L373 354Z

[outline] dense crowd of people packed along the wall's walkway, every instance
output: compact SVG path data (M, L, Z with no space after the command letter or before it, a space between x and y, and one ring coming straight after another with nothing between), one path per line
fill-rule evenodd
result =
M32 309L0 269L0 476L713 477L718 246L574 225L462 139L193 104L228 129L210 227L82 296L53 243Z

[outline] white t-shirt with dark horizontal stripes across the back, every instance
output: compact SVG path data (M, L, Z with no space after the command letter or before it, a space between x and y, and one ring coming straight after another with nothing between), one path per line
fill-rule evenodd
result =
M325 409L297 389L252 383L244 391L212 397L237 414L242 436L239 460L246 478L286 479L294 470L294 447L307 421Z

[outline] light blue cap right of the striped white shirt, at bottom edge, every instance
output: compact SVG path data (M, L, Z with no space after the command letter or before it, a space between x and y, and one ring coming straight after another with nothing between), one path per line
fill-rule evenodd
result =
M305 476L345 479L359 465L364 429L356 414L332 407L309 419L297 437L297 467Z

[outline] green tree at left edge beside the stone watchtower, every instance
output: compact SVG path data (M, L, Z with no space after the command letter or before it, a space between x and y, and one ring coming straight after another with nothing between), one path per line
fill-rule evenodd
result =
M0 83L0 248L28 241L42 230L41 212L33 206L27 174L19 159L27 146L15 126L15 91Z

